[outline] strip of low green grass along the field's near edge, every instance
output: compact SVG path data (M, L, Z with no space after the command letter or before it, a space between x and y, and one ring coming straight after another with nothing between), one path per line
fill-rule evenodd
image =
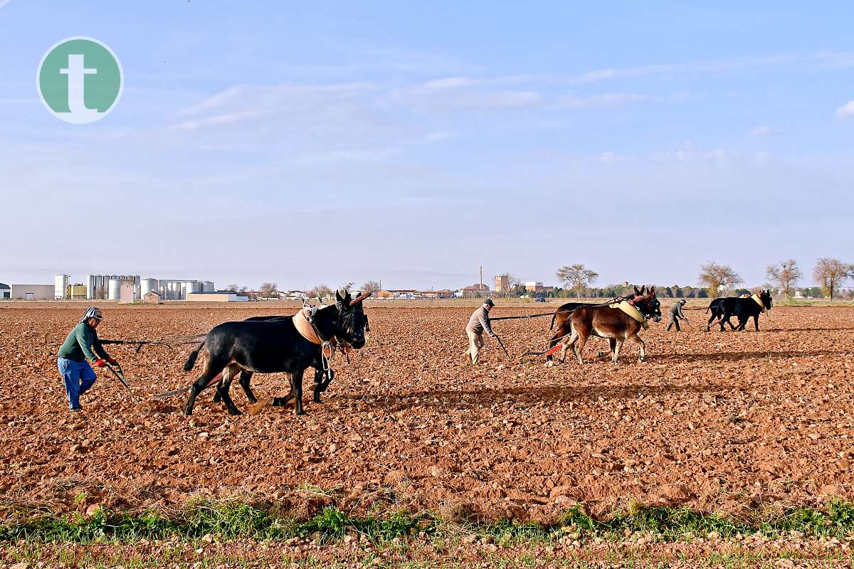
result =
M384 543L395 537L416 535L447 538L458 535L460 530L504 543L549 541L567 534L577 534L579 539L619 539L634 532L652 534L664 541L705 537L712 531L720 537L756 532L777 537L788 531L801 531L813 537L847 537L854 534L854 504L830 502L821 510L789 508L775 514L756 514L750 520L687 508L642 506L634 506L629 512L607 520L596 520L580 508L572 508L556 523L542 525L510 520L477 524L442 520L430 514L357 517L337 508L325 508L310 520L297 520L242 502L196 501L171 517L154 511L127 514L108 509L100 509L89 517L32 514L26 520L0 525L0 542L22 539L25 543L128 543L173 537L194 540L211 535L223 541L241 537L272 540L300 537L327 543L351 535Z

